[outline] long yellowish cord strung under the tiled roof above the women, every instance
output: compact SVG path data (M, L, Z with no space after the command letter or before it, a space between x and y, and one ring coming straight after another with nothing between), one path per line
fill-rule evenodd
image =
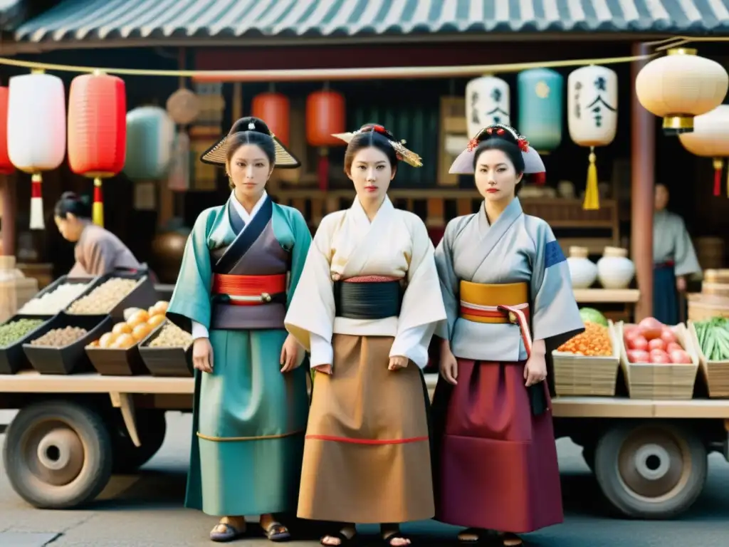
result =
M505 63L500 65L467 66L405 66L370 69L278 69L278 70L147 70L115 69L95 66L36 63L0 57L0 65L16 66L31 70L90 73L103 72L121 76L190 77L199 82L296 82L305 80L355 80L355 79L403 79L403 78L454 78L480 76L486 72L518 72L537 68L561 68L569 66L608 65L631 63L657 56L633 55L629 57L607 57L596 59L573 59L570 61L536 61L531 63Z

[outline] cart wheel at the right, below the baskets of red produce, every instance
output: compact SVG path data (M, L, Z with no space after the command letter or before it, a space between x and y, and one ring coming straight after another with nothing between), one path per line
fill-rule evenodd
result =
M668 519L686 511L706 483L706 447L676 424L617 424L599 440L595 476L626 516Z

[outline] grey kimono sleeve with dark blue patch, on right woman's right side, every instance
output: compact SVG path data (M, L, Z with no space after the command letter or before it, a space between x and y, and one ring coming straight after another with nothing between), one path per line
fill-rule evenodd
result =
M567 260L552 228L531 217L529 235L534 241L531 271L531 330L534 340L544 340L550 351L585 330Z

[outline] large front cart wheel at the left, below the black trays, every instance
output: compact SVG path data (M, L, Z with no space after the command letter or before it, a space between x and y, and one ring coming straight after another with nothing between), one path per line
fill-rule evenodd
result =
M20 497L37 508L93 500L112 475L112 443L101 416L66 400L26 406L7 428L5 469Z

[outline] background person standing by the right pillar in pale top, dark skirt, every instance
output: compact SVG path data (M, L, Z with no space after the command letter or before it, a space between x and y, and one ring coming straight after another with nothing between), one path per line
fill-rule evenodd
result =
M653 317L666 325L677 325L682 314L679 293L686 291L686 278L701 271L691 236L684 221L666 209L666 185L655 185L653 212Z

